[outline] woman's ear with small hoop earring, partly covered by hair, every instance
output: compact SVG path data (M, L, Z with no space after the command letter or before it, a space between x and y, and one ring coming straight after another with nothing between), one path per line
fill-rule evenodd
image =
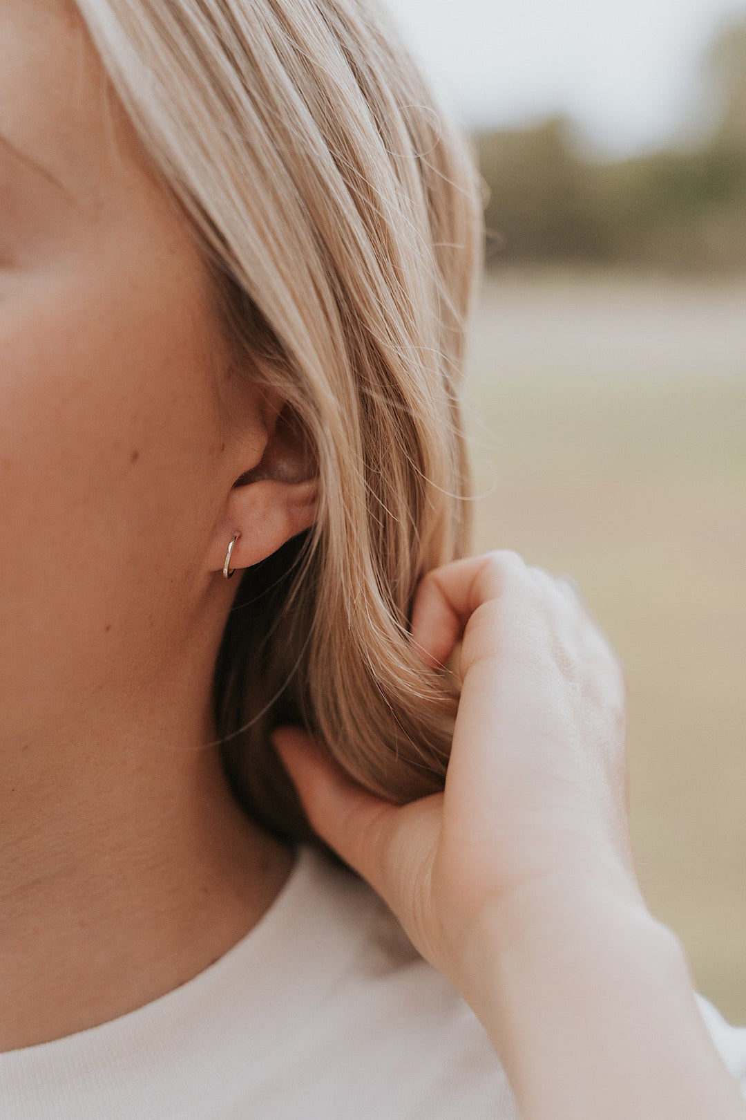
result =
M213 571L223 569L236 533L240 535L230 553L232 570L272 556L315 519L315 456L295 412L287 404L271 408L266 430L262 458L228 492L210 547Z

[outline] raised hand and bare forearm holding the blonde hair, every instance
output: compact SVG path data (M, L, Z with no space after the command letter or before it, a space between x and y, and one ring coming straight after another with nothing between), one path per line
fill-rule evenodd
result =
M445 791L391 805L284 728L314 828L471 1004L525 1120L744 1120L635 878L623 679L580 599L495 552L431 572L412 633L432 666L462 641Z

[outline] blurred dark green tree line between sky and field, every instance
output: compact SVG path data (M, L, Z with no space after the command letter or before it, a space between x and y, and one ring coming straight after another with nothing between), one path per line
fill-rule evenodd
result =
M564 118L474 133L489 264L746 269L746 22L718 38L705 66L715 118L687 150L594 162Z

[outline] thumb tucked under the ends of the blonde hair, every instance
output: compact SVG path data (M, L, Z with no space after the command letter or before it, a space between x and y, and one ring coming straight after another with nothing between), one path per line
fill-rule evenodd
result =
M388 902L386 853L399 806L353 782L304 731L282 727L272 741L314 832Z

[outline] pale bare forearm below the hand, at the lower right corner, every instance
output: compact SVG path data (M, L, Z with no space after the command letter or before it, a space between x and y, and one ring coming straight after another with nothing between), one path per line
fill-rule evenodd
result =
M523 1120L746 1118L681 946L642 906L525 898L481 924L463 974Z

